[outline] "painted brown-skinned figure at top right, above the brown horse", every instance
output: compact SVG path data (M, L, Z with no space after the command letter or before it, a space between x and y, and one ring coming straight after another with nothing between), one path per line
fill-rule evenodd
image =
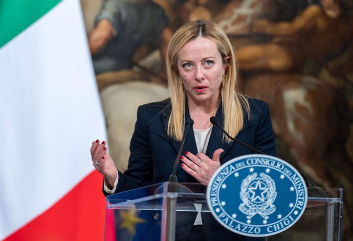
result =
M322 7L308 6L292 22L255 21L254 32L273 36L269 43L240 49L243 71L290 71L306 59L320 65L336 57L353 38L353 16L342 13L342 2L322 0Z

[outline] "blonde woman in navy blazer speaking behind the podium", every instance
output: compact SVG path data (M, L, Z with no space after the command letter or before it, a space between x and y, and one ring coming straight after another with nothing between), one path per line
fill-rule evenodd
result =
M235 54L222 29L200 20L185 24L169 43L166 63L170 99L138 108L128 169L121 173L115 168L104 141L92 143L93 165L104 175L105 194L168 181L189 119L194 124L180 157L179 182L206 186L220 165L253 153L213 127L212 116L231 136L276 155L269 107L237 93ZM193 225L201 223L212 228ZM224 229L209 213L203 213L202 220L192 222L177 239L219 240L219 235L222 240L256 239Z

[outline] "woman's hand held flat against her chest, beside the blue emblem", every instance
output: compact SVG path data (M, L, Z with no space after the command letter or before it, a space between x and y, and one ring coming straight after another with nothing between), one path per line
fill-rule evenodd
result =
M220 167L219 156L224 150L219 148L213 152L212 159L205 154L198 153L193 155L191 152L185 152L185 156L181 156L180 160L182 168L194 177L198 182L207 186L213 173Z

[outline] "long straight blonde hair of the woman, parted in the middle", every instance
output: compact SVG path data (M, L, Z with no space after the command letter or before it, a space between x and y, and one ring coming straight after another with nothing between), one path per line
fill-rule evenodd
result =
M215 42L224 64L227 65L225 86L220 87L220 99L223 105L223 127L229 135L235 137L244 123L243 111L249 114L250 106L247 98L236 91L237 67L234 49L227 35L218 25L201 20L193 21L180 27L173 34L168 46L166 65L172 108L168 120L167 135L177 141L181 141L183 138L187 93L181 87L182 79L178 71L178 55L187 42L198 36L206 37ZM229 61L226 60L227 56L230 57ZM225 135L223 139L226 142L231 142Z

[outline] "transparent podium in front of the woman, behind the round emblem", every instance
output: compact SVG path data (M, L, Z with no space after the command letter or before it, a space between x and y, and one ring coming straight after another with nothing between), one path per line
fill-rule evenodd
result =
M174 241L178 225L210 212L206 187L196 183L164 182L106 198L105 241ZM264 240L340 241L343 189L308 188L300 220ZM222 237L219 238L222 240Z

